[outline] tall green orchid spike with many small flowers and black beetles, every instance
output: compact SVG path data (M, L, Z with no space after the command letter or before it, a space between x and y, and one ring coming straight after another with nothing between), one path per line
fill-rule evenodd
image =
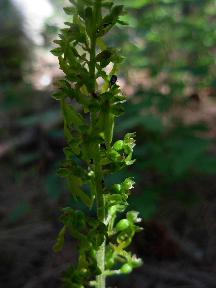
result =
M119 54L120 48L106 47L101 39L116 23L127 25L119 20L127 12L123 10L124 5L114 6L112 1L69 1L72 5L63 9L71 15L71 22L64 23L67 27L60 29L60 40L54 40L59 47L51 50L65 73L64 79L53 83L58 90L52 97L61 103L64 135L68 140L68 146L63 149L66 160L59 163L61 168L56 174L66 177L74 201L82 201L89 209L96 201L97 215L92 218L71 207L61 208L63 214L59 220L63 228L53 251L62 249L68 229L78 239L79 258L76 267L71 265L62 272L64 287L105 288L106 276L127 274L142 264L140 258L125 251L135 232L142 230L136 225L141 221L137 217L139 213L129 211L115 225L116 214L129 205L127 199L135 184L133 177L109 188L105 188L104 182L105 175L135 162L132 159L135 133L127 133L123 140L111 145L114 119L124 113L119 103L126 101L116 84L118 64L124 57ZM110 63L112 68L108 73L106 67ZM97 83L98 77L104 80L102 87ZM70 104L73 99L83 107L84 113L90 112L91 125ZM82 166L76 164L76 157L83 161ZM81 188L85 184L90 186L88 194ZM108 240L111 236L112 239L117 236L115 244Z

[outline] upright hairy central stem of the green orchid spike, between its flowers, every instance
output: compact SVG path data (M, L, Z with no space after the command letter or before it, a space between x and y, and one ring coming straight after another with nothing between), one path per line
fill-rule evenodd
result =
M95 15L100 14L101 12L101 0L96 0L95 4ZM97 25L96 25L97 26ZM90 61L88 63L89 66L89 73L90 73L90 78L92 81L92 86L91 90L95 91L95 55L96 55L96 40L97 40L97 27L95 26L94 31L92 32L91 36L91 50L90 50ZM97 102L97 99L95 99L91 94L90 94L90 102L94 103ZM97 123L97 112L91 112L90 113L91 117L91 128L95 127ZM102 179L103 179L103 173L101 169L101 158L100 158L100 153L99 153L99 145L96 145L95 147L95 152L97 154L97 157L93 159L94 161L94 166L95 166L95 187L96 187L96 196L97 196L97 219L101 222L105 222L105 210L102 209L100 210L100 207L104 206L105 199L104 199L104 193L102 189ZM102 274L99 276L96 276L96 288L105 288L105 278L106 276L103 274L104 272L104 262L105 262L105 245L106 245L106 240L104 243L100 246L100 250L97 251L96 253L96 259L99 268L101 269Z

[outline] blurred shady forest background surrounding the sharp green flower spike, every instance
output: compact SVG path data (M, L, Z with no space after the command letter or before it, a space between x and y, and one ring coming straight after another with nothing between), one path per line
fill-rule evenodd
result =
M37 2L37 4L35 3ZM216 287L216 1L124 0L128 26L103 38L126 57L118 81L128 101L114 141L137 132L137 162L105 185L135 176L130 209L144 231L129 247L144 265L110 286ZM61 229L73 202L55 171L66 140L52 82L62 77L55 47L64 0L0 1L0 286L60 288L76 263L76 241ZM76 107L77 112L79 107ZM86 117L84 115L84 117ZM130 170L130 171L129 171ZM95 211L91 211L91 216ZM89 214L89 211L86 211ZM133 284L131 284L133 283Z

